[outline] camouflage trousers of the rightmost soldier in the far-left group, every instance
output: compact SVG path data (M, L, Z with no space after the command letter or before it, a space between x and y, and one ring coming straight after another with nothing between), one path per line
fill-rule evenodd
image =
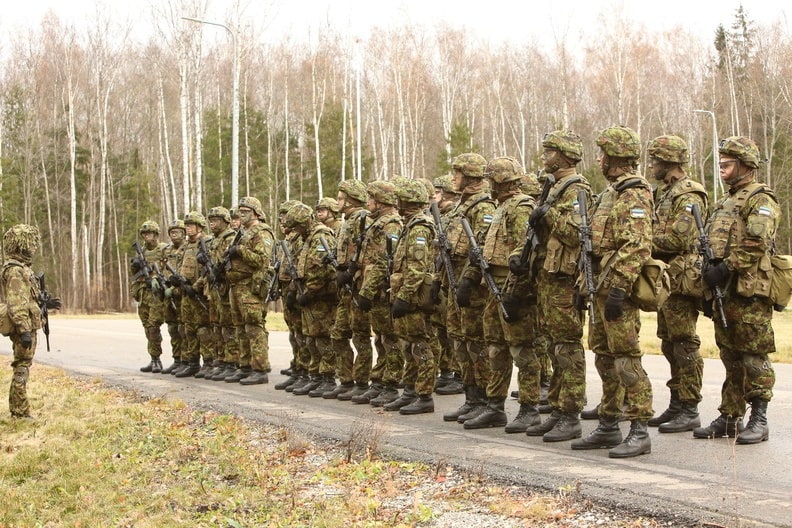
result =
M250 280L232 284L229 298L231 317L239 341L239 365L269 372L267 305L253 293Z

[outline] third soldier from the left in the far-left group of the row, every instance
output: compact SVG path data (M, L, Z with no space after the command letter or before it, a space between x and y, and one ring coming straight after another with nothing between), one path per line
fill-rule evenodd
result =
M209 325L208 300L204 296L203 288L196 283L201 276L198 266L198 242L204 236L206 219L198 211L190 211L184 216L184 228L187 232L187 242L184 245L181 267L178 269L179 277L170 277L170 283L178 287L181 293L181 321L185 341L184 365L178 369L174 376L186 378L189 376L204 377L212 369L214 350L212 348L212 329ZM203 367L201 366L203 358Z

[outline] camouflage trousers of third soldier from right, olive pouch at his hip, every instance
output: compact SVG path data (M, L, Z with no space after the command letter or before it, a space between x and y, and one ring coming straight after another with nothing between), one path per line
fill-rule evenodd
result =
M654 416L652 384L641 364L638 335L641 316L638 306L626 299L624 313L615 321L605 320L607 292L595 300L595 319L589 321L589 347L595 354L594 365L602 380L599 414L616 419L622 402L630 420L647 421Z

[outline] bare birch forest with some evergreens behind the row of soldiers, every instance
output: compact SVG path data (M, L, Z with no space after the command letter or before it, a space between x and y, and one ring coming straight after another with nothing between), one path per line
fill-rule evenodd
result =
M740 7L702 43L612 11L573 53L562 39L493 44L442 23L265 42L236 2L220 21L234 38L207 45L223 30L182 19L206 8L154 4L144 40L97 10L87 28L49 13L2 42L0 227L39 226L34 268L70 311L134 309L129 257L144 220L159 222L165 240L187 211L234 205L235 49L238 193L259 198L270 222L283 200L313 205L348 178L433 179L461 152L536 171L555 129L583 137L580 169L599 191L594 139L614 124L644 144L685 138L689 173L716 197L714 124L718 138L759 144L760 178L784 213L778 250L790 252L792 39L780 21L757 23Z

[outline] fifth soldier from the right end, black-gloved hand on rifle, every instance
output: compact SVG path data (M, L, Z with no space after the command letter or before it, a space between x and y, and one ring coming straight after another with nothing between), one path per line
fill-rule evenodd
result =
M495 158L487 164L484 175L490 182L492 194L498 208L484 238L482 258L489 265L490 273L501 292L507 290L509 279L509 255L524 244L525 227L536 202L520 189L523 168L514 158ZM482 272L478 264L468 262L462 272L462 280L481 282ZM503 306L489 292L484 306L484 340L489 356L490 380L487 385L487 407L482 413L465 421L465 429L504 427L508 423L504 404L509 394L513 365L519 369L520 417L507 432L516 432L521 425L539 420L536 405L539 403L539 375L541 365L534 350L537 332L535 303L529 306L525 299L512 293L503 297ZM509 315L507 319L503 310ZM517 322L519 320L519 322ZM527 425L526 425L527 427Z

